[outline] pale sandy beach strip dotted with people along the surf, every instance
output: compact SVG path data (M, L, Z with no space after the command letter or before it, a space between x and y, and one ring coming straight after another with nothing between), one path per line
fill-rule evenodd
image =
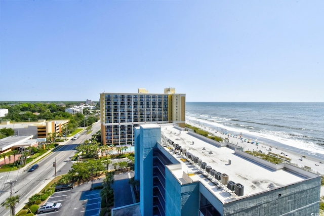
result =
M268 154L269 152L278 154L278 155L282 155L282 156L286 156L288 158L291 158L291 163L299 166L299 167L310 167L312 172L317 172L317 174L319 175L323 175L324 174L324 161L319 161L318 159L312 158L312 157L303 157L303 155L300 155L296 152L293 151L282 151L279 148L276 148L274 146L270 146L268 144L264 144L264 143L259 143L259 145L257 146L254 140L250 140L250 143L248 143L249 139L244 138L244 136L242 136L242 140L240 140L240 134L223 134L222 132L219 132L215 129L212 129L210 127L207 127L205 125L201 125L201 124L196 124L194 122L191 121L186 121L186 124L190 124L194 127L198 127L200 129L203 129L204 131L209 132L212 135L215 135L217 137L221 137L223 138L223 140L225 142L228 143L232 143L235 144L237 146L240 146L242 148L244 148L244 151L262 151L262 153ZM236 135L236 136L235 136ZM233 137L235 136L235 137ZM227 138L227 139L225 139ZM246 141L244 141L246 140ZM251 142L255 142L254 144L252 144ZM322 162L322 163L321 163ZM324 196L324 188L321 188L321 196Z

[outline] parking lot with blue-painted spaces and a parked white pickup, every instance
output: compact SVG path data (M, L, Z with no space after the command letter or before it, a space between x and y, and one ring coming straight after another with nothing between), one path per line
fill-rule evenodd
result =
M102 180L101 180L102 181ZM96 184L100 184L100 180L96 181ZM38 215L51 214L53 216L91 216L99 215L101 197L99 195L100 190L92 190L91 183L86 183L80 186L75 186L71 190L58 191L52 194L52 196L46 201L60 202L62 207L58 211L46 212Z

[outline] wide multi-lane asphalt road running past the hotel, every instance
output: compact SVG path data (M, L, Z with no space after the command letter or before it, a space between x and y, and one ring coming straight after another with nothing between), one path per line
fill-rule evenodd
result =
M93 125L93 132L96 133L100 129L100 121ZM92 133L93 134L93 133ZM84 143L85 140L90 139L92 134L86 134L83 132L80 134L79 139L75 141L67 141L64 145L53 150L46 157L39 160L37 168L33 172L27 172L28 168L32 164L20 169L19 171L6 172L0 174L0 187L2 193L0 193L0 203L4 202L10 196L10 182L14 182L12 191L13 195L19 195L19 203L16 206L16 212L18 212L27 202L29 197L41 191L55 175L63 175L68 172L71 167L71 157L75 154L75 147ZM53 162L56 158L56 174ZM0 215L9 216L10 209L0 206Z

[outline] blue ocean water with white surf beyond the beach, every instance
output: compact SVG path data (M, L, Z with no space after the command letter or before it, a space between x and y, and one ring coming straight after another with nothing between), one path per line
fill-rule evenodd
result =
M186 102L186 120L324 160L324 103Z

